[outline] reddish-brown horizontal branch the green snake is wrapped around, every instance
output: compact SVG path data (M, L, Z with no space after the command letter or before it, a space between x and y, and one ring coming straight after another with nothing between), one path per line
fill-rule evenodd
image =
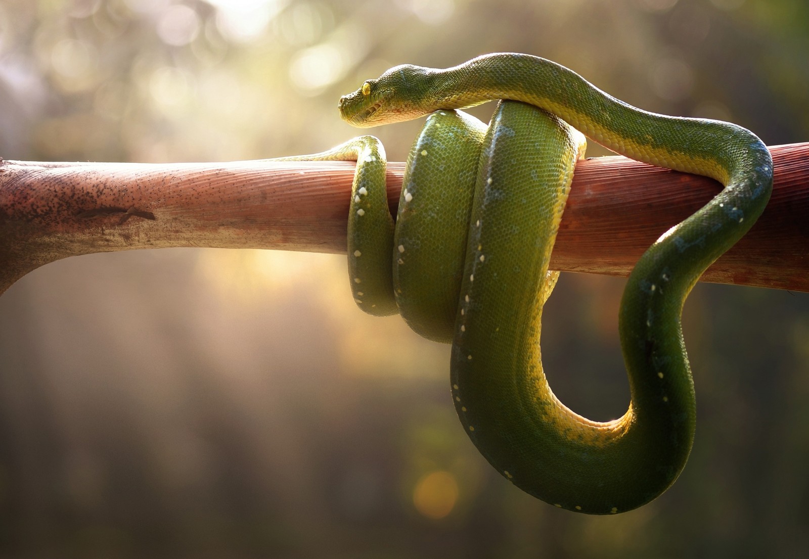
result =
M771 148L773 197L702 281L809 291L809 143ZM388 165L396 212L404 163ZM35 163L0 160L0 293L67 256L135 248L345 252L354 163ZM664 231L718 193L701 176L587 159L552 269L629 275Z

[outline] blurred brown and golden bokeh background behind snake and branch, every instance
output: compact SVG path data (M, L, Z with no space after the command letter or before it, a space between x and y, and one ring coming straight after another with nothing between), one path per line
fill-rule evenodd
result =
M809 141L805 0L2 0L0 155L309 153L357 133L336 105L363 79L493 51ZM420 125L375 133L403 160ZM688 466L650 505L587 517L494 472L455 417L448 346L362 315L346 279L341 256L188 248L19 281L0 299L0 557L807 557L809 295L698 285ZM622 287L565 273L544 317L554 391L599 420L629 401Z

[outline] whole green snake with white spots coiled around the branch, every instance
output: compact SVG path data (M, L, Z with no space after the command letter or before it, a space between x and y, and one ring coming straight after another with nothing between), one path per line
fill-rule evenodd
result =
M488 129L454 110L488 100L506 100ZM773 163L760 139L727 122L642 111L564 66L516 53L446 70L396 66L339 108L360 127L432 113L408 158L395 229L378 140L355 138L303 159L358 161L348 231L354 299L451 341L455 409L489 463L545 502L595 515L663 493L694 437L683 303L769 200ZM540 362L542 306L557 279L549 256L583 155L574 129L632 159L724 185L629 277L619 331L631 403L606 422L561 404Z

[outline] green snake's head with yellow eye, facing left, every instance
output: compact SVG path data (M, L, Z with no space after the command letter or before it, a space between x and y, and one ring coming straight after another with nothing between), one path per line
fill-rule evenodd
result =
M369 128L390 122L409 121L431 112L419 104L430 82L430 69L403 64L377 79L362 83L354 93L343 95L337 108L350 125Z

